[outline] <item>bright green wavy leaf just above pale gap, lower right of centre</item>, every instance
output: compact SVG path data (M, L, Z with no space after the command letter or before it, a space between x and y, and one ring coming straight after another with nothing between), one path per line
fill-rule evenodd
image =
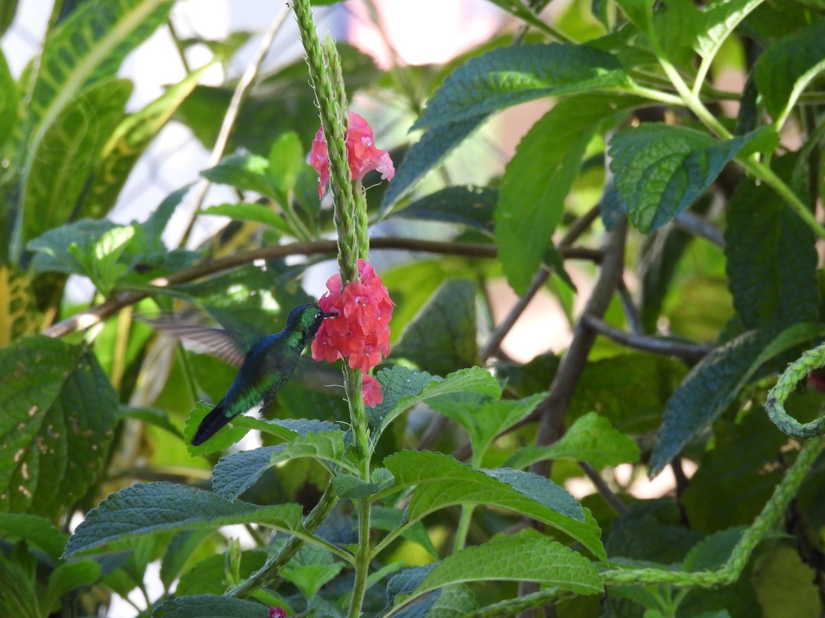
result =
M584 461L601 470L620 463L636 463L640 456L636 442L616 431L605 417L591 412L577 419L562 438L549 447L521 447L504 465L525 468L544 459L569 459Z

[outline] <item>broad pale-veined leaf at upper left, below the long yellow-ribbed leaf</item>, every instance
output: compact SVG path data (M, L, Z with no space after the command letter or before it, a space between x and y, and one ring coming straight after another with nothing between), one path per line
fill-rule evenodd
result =
M36 141L21 190L22 241L68 221L131 92L128 80L101 82L62 107Z

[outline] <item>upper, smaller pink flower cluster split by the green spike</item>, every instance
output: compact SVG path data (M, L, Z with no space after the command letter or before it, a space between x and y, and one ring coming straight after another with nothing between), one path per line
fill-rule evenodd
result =
M382 180L393 180L395 168L389 152L375 147L372 136L372 127L354 111L349 113L349 129L347 129L347 158L350 164L350 173L354 180L372 170L381 172ZM318 197L323 198L329 182L329 157L327 140L323 136L323 129L318 129L309 151L309 165L318 171Z

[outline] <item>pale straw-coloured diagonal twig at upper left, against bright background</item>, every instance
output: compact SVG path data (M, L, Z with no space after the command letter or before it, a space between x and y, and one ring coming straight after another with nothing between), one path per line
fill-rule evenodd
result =
M229 144L229 137L232 135L233 129L235 128L235 121L238 119L241 105L243 105L243 101L246 100L247 92L252 86L252 82L255 81L258 71L261 69L261 64L266 58L266 52L268 52L272 46L272 40L275 39L275 35L278 33L278 30L281 30L281 27L286 21L286 16L289 14L290 7L286 6L275 18L275 20L272 21L271 26L269 26L269 30L266 30L266 33L263 35L261 44L258 45L258 49L255 52L255 57L252 59L252 62L248 64L246 70L243 72L243 75L238 80L238 85L235 87L235 91L232 94L232 100L229 101L229 107L226 110L226 114L224 114L224 121L220 125L218 138L215 139L209 161L206 162L207 169L218 165L221 158L224 157L224 152L227 144ZM204 178L201 179L196 186L192 217L189 221L189 226L186 227L186 232L184 232L183 238L181 239L181 245L186 244L186 240L191 234L192 227L195 225L196 214L203 205L204 199L206 198L206 192L209 190L210 184L210 181Z

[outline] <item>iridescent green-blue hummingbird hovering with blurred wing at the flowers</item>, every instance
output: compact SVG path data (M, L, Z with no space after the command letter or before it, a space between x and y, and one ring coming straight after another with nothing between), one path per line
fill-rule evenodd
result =
M219 358L240 367L229 391L200 421L192 444L203 444L238 414L252 408L263 410L271 404L295 371L321 322L336 315L322 311L318 305L299 305L290 311L284 330L266 336L242 336L219 328L152 320L158 330L203 344Z

